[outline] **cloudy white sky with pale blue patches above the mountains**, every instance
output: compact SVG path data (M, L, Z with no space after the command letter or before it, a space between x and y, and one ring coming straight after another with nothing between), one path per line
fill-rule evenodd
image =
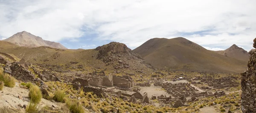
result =
M256 0L0 0L0 39L27 31L69 49L132 50L184 37L208 50L253 49Z

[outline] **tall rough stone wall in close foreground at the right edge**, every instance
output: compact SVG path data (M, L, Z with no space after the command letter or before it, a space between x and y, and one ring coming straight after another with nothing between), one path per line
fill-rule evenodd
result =
M256 38L253 40L256 48ZM256 113L256 52L252 49L247 63L247 69L241 73L241 109L243 113Z

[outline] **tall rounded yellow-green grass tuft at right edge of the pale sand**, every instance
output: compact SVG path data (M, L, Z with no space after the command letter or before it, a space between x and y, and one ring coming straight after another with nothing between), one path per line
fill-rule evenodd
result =
M29 98L30 102L32 103L39 103L42 98L42 92L40 88L36 85L32 85L31 88L29 89Z

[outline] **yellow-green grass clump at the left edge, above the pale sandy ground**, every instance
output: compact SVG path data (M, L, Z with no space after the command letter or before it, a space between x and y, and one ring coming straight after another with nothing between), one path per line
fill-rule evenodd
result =
M0 71L0 81L3 81L4 86L13 88L15 86L16 79L9 76L9 74Z

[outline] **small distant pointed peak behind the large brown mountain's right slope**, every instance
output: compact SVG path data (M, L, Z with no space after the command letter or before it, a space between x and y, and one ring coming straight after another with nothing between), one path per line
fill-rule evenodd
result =
M249 53L241 47L238 47L236 44L233 44L230 48L223 51L214 51L218 54L225 55L227 57L236 58L242 61L248 61Z

